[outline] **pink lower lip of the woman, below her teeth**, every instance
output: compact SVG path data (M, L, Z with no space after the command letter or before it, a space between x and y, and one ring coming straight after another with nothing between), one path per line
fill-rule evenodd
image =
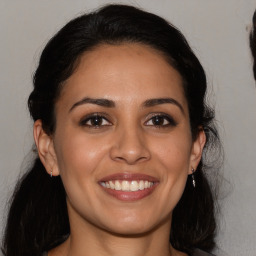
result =
M113 196L118 200L121 200L121 201L137 201L137 200L141 200L141 199L149 196L150 194L152 194L152 192L155 190L156 186L157 186L157 183L154 184L150 188L146 188L144 190L138 190L138 191L130 191L130 192L122 191L122 190L114 190L114 189L105 188L105 187L102 187L102 186L101 187L110 196Z

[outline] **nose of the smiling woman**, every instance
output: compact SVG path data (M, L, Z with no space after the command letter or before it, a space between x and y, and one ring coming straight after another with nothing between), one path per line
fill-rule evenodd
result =
M126 129L115 134L110 157L114 161L133 165L150 159L145 135L136 129Z

